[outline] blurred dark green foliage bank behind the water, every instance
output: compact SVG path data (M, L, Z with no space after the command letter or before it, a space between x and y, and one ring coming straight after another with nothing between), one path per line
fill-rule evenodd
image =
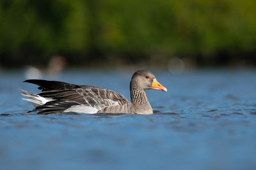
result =
M1 0L1 67L256 64L255 0Z

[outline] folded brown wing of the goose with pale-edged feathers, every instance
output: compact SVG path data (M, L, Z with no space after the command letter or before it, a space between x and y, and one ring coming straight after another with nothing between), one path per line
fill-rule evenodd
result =
M52 112L55 106L56 108L58 106L57 111L81 112L81 110L84 110L85 113L86 111L97 113L109 106L123 106L130 103L122 94L99 87L47 80L26 80L25 82L39 85L38 89L42 92L38 96L53 99L51 103L48 102L35 108L36 111L44 111L44 113L47 113L47 108L51 108Z

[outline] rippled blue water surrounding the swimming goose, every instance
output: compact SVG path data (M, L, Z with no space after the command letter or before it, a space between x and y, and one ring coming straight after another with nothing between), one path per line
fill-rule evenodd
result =
M256 168L256 70L153 72L168 89L147 92L156 113L116 116L26 113L33 106L18 89L39 92L36 86L22 83L22 71L1 72L1 168ZM129 98L131 74L69 70L56 80Z

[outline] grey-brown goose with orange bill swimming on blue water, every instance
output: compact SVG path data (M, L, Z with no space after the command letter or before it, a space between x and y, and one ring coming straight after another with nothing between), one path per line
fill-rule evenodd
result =
M145 90L167 91L147 70L136 71L131 78L131 101L112 90L90 85L74 85L61 81L26 80L38 85L39 94L20 90L22 98L35 105L38 114L75 111L78 113L134 113L152 114Z

